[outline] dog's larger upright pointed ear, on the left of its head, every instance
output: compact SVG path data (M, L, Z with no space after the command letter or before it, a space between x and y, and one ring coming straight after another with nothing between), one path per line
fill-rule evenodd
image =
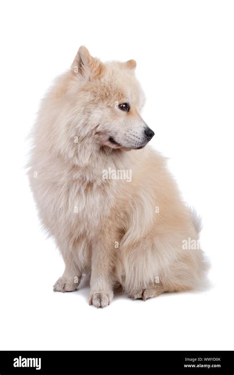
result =
M104 70L102 62L92 57L84 45L79 47L72 64L72 72L84 80L90 81L100 77Z

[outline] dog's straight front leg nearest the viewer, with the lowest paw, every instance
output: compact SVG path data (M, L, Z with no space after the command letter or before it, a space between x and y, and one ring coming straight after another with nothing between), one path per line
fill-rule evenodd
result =
M110 237L107 237L107 234ZM113 299L114 239L111 231L100 231L92 246L89 304L105 307Z

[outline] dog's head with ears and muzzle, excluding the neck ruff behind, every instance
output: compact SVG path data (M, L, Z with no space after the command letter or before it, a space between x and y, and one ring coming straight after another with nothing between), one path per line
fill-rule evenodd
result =
M136 62L102 63L81 46L72 64L68 96L73 101L74 136L100 147L141 149L154 136L140 115L145 97ZM71 122L70 122L71 123Z

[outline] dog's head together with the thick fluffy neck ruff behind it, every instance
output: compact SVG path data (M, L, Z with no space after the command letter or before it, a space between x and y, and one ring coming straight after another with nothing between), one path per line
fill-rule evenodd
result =
M42 102L40 146L79 165L102 151L120 155L143 148L154 132L140 115L145 97L135 67L134 60L102 63L81 46Z

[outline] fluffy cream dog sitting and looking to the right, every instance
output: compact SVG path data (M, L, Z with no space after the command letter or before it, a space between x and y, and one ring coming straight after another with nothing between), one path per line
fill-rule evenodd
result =
M166 159L147 145L154 131L140 114L145 96L135 68L135 60L103 63L81 46L32 132L31 188L65 263L54 291L75 291L90 274L96 307L110 304L117 285L143 300L194 290L207 270L199 218Z

